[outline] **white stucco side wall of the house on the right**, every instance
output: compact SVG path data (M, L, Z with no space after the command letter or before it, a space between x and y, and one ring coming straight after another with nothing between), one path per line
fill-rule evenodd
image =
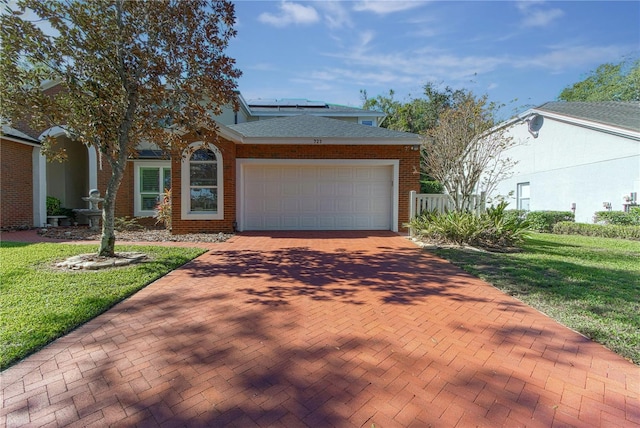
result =
M579 127L545 117L538 138L526 123L510 128L521 142L506 155L519 160L514 176L496 194L514 193L530 183L530 209L568 211L575 203L576 221L591 223L603 202L622 210L622 196L640 193L640 141Z

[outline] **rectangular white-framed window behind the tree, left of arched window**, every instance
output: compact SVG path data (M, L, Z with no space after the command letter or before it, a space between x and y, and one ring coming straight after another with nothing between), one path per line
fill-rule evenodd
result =
M134 172L134 215L152 216L165 190L171 189L169 162L136 162Z

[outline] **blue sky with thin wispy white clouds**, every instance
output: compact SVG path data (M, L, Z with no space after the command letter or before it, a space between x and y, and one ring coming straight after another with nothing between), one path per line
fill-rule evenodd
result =
M247 99L360 106L427 82L523 110L606 62L640 56L638 1L236 1L228 53ZM514 101L515 100L515 101ZM507 114L507 113L505 113Z

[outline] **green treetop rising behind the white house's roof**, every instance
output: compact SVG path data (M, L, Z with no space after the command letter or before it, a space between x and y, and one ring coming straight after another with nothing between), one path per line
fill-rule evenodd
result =
M640 59L602 64L562 90L561 101L640 101Z

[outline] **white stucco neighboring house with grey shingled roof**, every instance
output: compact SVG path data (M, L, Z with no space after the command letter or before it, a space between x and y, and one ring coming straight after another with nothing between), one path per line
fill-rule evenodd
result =
M496 193L511 208L575 212L623 211L640 193L640 102L549 102L501 124L521 144L518 161ZM629 201L631 199L631 201Z

